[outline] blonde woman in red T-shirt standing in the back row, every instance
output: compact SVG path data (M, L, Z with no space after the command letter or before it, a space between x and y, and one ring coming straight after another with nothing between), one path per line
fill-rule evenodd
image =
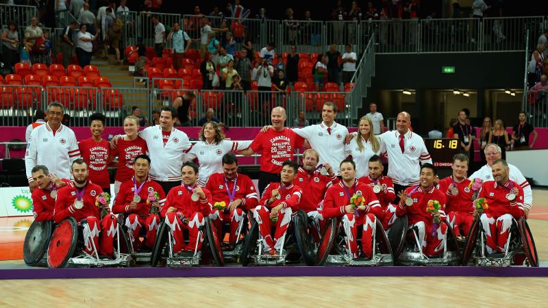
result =
M118 194L121 183L132 179L135 174L135 157L147 154L147 142L139 136L139 118L126 116L124 119L124 138L119 138L118 146L112 149L112 157L118 156L118 170L114 177L114 193Z

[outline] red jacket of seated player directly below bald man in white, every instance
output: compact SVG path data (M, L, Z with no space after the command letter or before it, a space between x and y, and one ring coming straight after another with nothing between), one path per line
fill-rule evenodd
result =
M410 194L410 192L414 192ZM396 216L401 217L407 214L408 224L412 226L416 222L423 221L425 224L432 224L432 214L426 211L427 203L430 200L437 200L440 203L439 213L441 221L445 221L445 193L432 187L429 190L423 190L420 186L411 186L406 189L407 195L413 199L413 205L407 206L405 200L401 200L396 207Z

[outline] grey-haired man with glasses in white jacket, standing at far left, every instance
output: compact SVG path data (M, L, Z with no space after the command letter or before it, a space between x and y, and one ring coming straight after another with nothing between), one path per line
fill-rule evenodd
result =
M74 131L62 125L63 105L51 103L47 107L47 123L32 130L27 142L25 167L30 191L38 186L32 179L31 170L36 165L45 165L49 172L60 179L71 179L71 164L80 158Z

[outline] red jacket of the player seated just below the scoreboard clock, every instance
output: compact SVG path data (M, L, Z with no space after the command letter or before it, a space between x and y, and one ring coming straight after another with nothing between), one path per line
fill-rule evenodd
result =
M460 182L455 181L458 189L458 194L456 196L453 196L453 194L449 192L449 185L453 183L453 181L451 181L451 178L453 178L452 175L450 177L446 177L443 180L440 180L439 183L440 192L445 193L445 196L447 197L447 203L445 203L445 211L447 213L451 211L473 213L474 192L470 189L471 181L469 179L463 179Z

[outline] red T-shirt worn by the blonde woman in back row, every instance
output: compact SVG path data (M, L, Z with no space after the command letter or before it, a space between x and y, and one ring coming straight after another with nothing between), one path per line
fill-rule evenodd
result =
M132 179L135 171L133 164L135 157L146 154L148 151L147 142L137 137L136 140L127 141L120 138L116 149L112 150L112 157L118 156L118 171L116 172L116 181L125 182Z

